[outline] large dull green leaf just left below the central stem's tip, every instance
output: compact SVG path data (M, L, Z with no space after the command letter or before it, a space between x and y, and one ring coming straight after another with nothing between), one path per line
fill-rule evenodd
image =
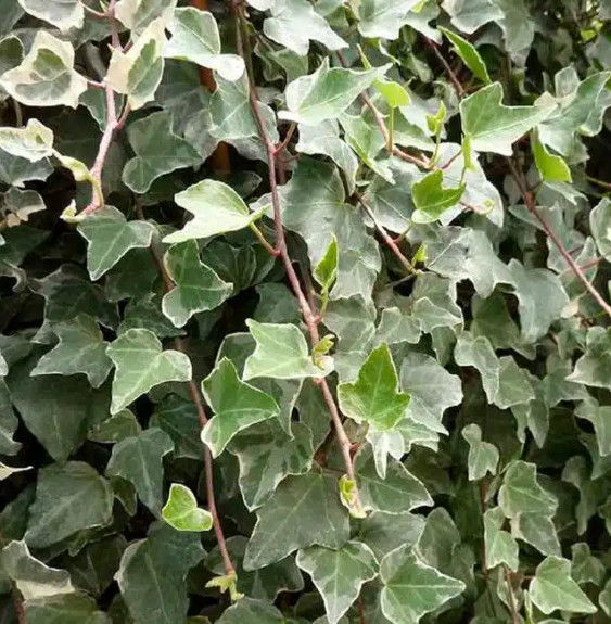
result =
M313 472L289 476L257 510L244 569L264 568L308 546L341 548L348 540L348 529L334 477Z

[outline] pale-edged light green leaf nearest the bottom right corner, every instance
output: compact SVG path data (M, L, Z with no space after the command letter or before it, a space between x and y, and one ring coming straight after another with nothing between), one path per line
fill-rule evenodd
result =
M571 578L571 562L548 557L537 565L529 585L531 600L546 615L557 609L577 613L596 613L596 607Z

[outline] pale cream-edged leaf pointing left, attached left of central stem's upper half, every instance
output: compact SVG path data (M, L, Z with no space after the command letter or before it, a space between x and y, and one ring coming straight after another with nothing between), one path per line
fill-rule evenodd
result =
M175 195L174 201L193 215L181 230L164 238L164 243L207 239L249 227L263 211L251 213L244 200L228 184L205 179Z

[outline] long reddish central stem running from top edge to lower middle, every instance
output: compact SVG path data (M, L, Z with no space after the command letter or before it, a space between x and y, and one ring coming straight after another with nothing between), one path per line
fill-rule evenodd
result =
M241 20L244 20L242 10L236 3L231 3L234 11L238 12ZM237 29L238 37L241 37L241 29ZM243 49L243 47L238 46L239 49ZM300 283L300 279L293 267L293 263L291 260L291 256L289 255L289 251L287 249L287 239L284 237L284 226L282 222L282 206L280 204L280 195L278 194L278 181L277 181L277 167L276 167L276 148L273 143L270 141L267 130L265 128L265 123L263 116L259 111L259 102L258 97L256 94L256 87L254 82L251 80L249 90L249 98L251 101L251 109L253 112L253 116L258 127L260 139L265 145L267 151L267 168L269 171L269 188L271 191L271 205L273 207L273 225L276 231L276 250L279 254L279 257L284 265L284 270L287 271L287 277L289 282L291 283L291 288L297 298L300 304L300 309L302 311L302 316L307 327L307 331L309 334L309 339L311 342L311 346L316 346L320 341L320 334L318 332L318 322L317 316L313 308L309 305L307 297L304 294L302 285ZM317 385L320 386L320 391L322 393L322 397L324 398L324 403L329 409L331 415L331 420L333 422L333 426L335 429L335 435L338 436L338 442L340 444L340 448L342 449L342 456L344 458L344 464L346 469L346 474L348 479L355 484L356 487L356 474L354 470L354 462L352 458L352 443L349 441L348 435L344 429L342 423L342 418L340 416L340 410L335 405L335 399L333 398L333 394L329 387L329 384L324 378L317 381ZM358 495L358 488L355 491L355 506L358 508L360 507L360 497Z

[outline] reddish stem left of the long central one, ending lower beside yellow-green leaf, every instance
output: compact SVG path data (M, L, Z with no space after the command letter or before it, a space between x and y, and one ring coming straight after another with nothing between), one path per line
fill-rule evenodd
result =
M140 220L144 220L144 212L142 211L142 201L139 195L135 198L135 205L136 205L136 215ZM153 263L157 267L160 276L164 282L164 288L166 292L170 292L174 290L174 282L167 272L167 269L164 265L163 258L161 257L160 253L153 245L149 247L151 252L151 256L153 258ZM187 349L184 344L180 338L175 339L175 346L176 351L183 353L187 355ZM195 410L198 412L198 420L200 421L200 429L204 429L206 425L208 418L206 416L206 408L204 407L204 402L202 399L202 395L198 389L198 384L191 379L188 382L189 395L193 405L195 406ZM203 444L203 443L202 443ZM212 451L206 444L204 444L204 471L205 471L205 481L206 481L206 498L208 502L208 509L213 519L213 527L216 534L216 542L218 544L218 551L222 558L222 563L225 565L225 573L229 575L236 574L236 568L233 566L233 562L231 561L231 556L229 555L229 550L227 549L227 543L225 540L225 533L222 532L222 525L220 524L220 518L218 517L218 510L216 508L216 498L214 495L214 473L213 473L213 457Z

